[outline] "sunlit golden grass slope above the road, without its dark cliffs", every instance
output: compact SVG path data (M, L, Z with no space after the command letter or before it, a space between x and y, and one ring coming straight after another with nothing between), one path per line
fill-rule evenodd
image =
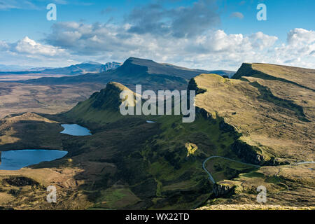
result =
M241 140L258 148L265 160L286 157L288 161L314 160L314 94L304 89L304 106L283 99L281 88L290 83L253 77L242 80L202 74L195 78L201 89L196 106L225 122L242 134ZM296 87L299 91L301 87ZM278 93L278 94L277 94ZM292 92L287 92L288 97ZM293 96L294 97L294 96ZM299 151L300 153L296 153Z

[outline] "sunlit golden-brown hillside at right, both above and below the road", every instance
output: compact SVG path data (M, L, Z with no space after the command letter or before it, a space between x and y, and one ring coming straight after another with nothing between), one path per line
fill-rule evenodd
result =
M232 80L202 74L194 78L203 92L197 95L196 106L223 117L242 134L241 141L255 146L265 160L274 158L280 164L314 161L314 73L311 69L244 64ZM246 151L239 156L246 158ZM241 209L240 204L258 203L255 197L260 185L267 188L267 204L314 205L313 169L314 164L266 166L233 181L219 181L217 186L228 186L234 194L209 200L204 209L216 209L217 204L225 204L225 209L239 204ZM217 178L224 178L221 175L218 172Z

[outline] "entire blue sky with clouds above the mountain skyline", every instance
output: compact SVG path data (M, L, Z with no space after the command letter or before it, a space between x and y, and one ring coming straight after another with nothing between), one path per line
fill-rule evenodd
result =
M49 3L57 20L47 20ZM267 20L257 18L261 3ZM242 62L315 69L314 8L314 0L0 0L0 64L141 57L194 69L236 71Z

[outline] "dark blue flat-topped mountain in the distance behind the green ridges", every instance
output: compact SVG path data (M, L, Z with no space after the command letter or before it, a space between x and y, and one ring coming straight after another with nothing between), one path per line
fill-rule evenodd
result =
M113 62L115 63L115 62ZM87 64L80 64L81 71L86 69ZM88 64L91 68L93 64ZM136 57L128 58L123 65L108 64L108 67L116 67L106 71L106 65L99 66L94 64L94 72L86 73L84 76L67 76L61 78L38 78L34 80L25 80L22 83L55 85L55 84L74 84L74 83L109 83L110 81L123 83L127 87L133 88L134 85L141 84L151 90L159 89L177 89L187 88L188 81L201 73L216 73L221 76L232 77L234 71L206 71L200 69L187 69L173 64L161 64L150 59L140 59ZM76 73L78 66L70 66L67 71L71 70ZM100 73L95 70L98 68ZM93 70L93 69L90 69ZM47 70L43 72L48 72ZM51 72L51 71L50 71ZM61 71L60 71L61 72Z

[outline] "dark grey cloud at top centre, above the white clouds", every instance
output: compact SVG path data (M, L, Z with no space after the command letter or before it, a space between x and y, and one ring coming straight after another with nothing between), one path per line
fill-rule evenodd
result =
M192 6L165 8L160 3L134 8L125 21L129 32L176 38L193 37L216 27L220 16L214 0L202 0Z

